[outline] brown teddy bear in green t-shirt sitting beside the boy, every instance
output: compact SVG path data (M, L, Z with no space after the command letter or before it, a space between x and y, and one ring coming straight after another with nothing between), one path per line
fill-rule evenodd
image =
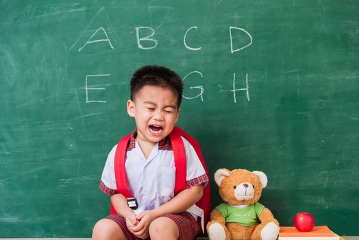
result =
M210 240L277 239L280 224L258 202L268 182L262 171L218 169L214 181L224 202L210 214L207 224Z

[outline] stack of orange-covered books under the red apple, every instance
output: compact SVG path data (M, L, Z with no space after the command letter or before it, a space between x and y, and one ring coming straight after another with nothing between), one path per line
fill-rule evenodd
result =
M310 232L299 232L295 227L280 227L278 240L340 240L327 226L315 226Z

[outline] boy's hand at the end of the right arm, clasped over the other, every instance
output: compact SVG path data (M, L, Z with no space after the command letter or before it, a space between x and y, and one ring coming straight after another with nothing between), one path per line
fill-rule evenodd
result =
M158 215L155 211L143 211L136 215L136 220L139 221L137 226L129 228L131 232L140 239L147 239L149 237L149 224L156 219Z

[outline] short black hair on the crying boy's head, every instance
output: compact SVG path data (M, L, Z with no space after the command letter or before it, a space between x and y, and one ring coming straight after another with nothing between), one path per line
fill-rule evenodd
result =
M135 95L146 85L168 88L177 94L178 107L181 105L183 83L181 77L166 67L149 65L134 72L130 82L130 97L134 101Z

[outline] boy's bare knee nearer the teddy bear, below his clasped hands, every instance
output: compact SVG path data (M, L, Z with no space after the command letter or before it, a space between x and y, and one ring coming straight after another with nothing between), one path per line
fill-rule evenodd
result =
M159 235L172 235L177 239L178 227L177 224L175 224L175 222L168 217L158 217L149 225L149 235L151 237Z

